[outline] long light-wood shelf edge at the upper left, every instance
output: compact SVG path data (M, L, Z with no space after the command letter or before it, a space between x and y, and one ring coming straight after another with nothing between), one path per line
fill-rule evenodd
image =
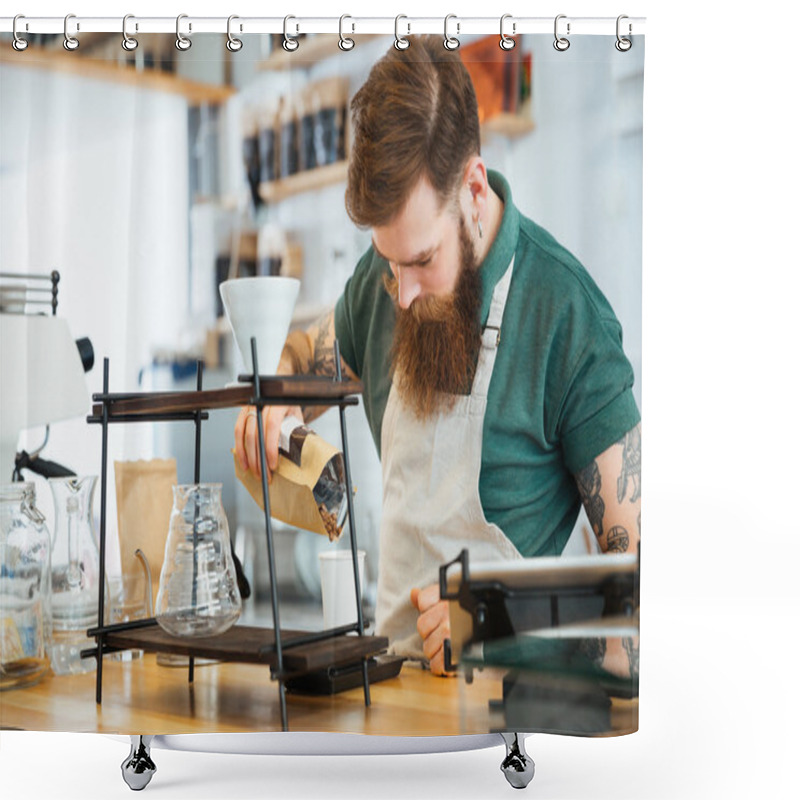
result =
M21 53L11 48L0 50L0 64L49 69L83 78L139 86L186 97L190 105L219 105L235 93L231 86L200 83L159 70L136 70L107 58L92 58L76 53L30 47Z

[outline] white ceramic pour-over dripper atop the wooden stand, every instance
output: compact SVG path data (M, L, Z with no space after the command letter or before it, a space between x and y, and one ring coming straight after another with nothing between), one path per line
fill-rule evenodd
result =
M274 375L289 333L300 281L279 275L235 278L219 286L225 316L242 356L245 372L253 372L250 339L256 337L258 371Z

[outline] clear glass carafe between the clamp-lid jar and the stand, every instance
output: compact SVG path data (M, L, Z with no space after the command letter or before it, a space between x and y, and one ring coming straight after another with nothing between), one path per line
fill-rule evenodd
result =
M90 672L97 662L81 658L80 651L95 644L86 631L97 625L100 554L92 518L97 477L51 478L49 483L56 515L50 659L57 675Z

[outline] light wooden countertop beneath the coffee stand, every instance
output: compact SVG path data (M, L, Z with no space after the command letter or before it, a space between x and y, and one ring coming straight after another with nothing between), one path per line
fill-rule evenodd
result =
M502 697L500 675L476 672L439 678L407 663L396 678L334 696L287 693L290 731L333 731L394 736L483 734L502 727L489 701ZM615 732L635 730L638 701L612 705ZM280 731L278 685L269 669L217 663L187 669L164 667L155 655L103 662L103 703L95 703L95 673L48 675L38 684L0 693L0 727L17 730L100 733L212 733Z

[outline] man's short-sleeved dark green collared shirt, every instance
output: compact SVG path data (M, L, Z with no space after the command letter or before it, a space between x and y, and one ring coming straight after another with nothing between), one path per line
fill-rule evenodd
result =
M489 182L504 209L480 266L481 325L516 258L487 397L479 493L486 519L523 555L554 555L580 510L574 474L639 422L633 369L619 321L588 272L519 213L500 174L490 171ZM335 310L341 356L364 383L379 454L395 320L383 286L388 270L370 247Z

